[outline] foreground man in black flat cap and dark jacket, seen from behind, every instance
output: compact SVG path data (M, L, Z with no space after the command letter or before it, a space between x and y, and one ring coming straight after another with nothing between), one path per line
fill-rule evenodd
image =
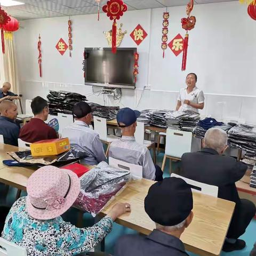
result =
M188 256L180 236L193 219L193 195L180 178L165 178L152 185L145 198L145 211L156 223L146 237L126 235L117 241L115 256Z

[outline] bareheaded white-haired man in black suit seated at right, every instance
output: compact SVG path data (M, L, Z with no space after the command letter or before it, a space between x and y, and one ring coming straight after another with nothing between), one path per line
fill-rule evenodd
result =
M227 148L227 133L220 128L212 128L205 133L203 148L195 153L185 153L181 157L183 177L219 187L218 197L236 203L223 251L242 250L245 242L238 239L255 215L255 206L238 196L235 182L246 172L247 165L235 158L223 156Z

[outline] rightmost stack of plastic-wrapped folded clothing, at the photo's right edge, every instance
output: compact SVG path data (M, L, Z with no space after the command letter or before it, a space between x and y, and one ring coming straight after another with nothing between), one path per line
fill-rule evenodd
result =
M238 124L228 131L230 147L242 149L256 155L256 128L248 124Z

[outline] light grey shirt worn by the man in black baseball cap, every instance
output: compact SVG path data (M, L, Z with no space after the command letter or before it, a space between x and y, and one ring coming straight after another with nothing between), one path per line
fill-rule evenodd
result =
M81 163L95 165L106 160L99 134L86 123L75 121L74 124L63 129L61 137L69 138L71 146L90 155L83 159Z

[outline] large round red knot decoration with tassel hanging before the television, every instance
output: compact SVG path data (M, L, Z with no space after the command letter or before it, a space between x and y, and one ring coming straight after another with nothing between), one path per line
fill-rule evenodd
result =
M127 6L122 0L109 0L106 5L102 7L103 12L107 13L110 20L113 20L112 25L112 52L116 53L116 20L119 20L127 11Z

